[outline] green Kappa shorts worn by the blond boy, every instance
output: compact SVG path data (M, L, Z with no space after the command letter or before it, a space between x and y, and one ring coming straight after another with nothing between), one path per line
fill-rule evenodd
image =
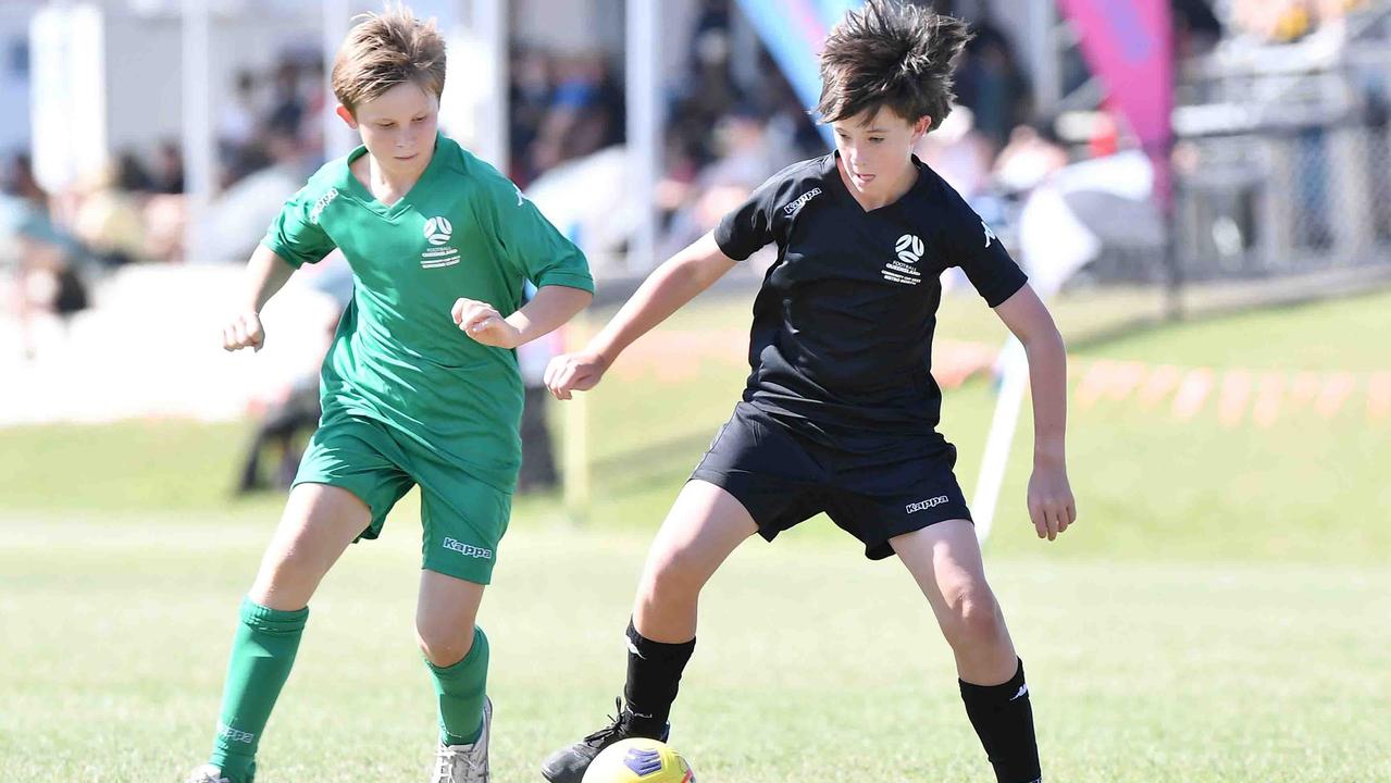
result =
M334 416L319 426L295 484L328 484L357 495L376 538L387 512L420 485L421 567L477 584L492 579L498 542L508 530L512 494L485 484L381 421Z

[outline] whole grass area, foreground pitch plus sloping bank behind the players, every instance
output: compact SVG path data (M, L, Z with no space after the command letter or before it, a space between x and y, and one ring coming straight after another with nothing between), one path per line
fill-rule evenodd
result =
M1124 300L1063 302L1070 335ZM746 323L714 302L675 330ZM940 334L995 341L975 302ZM1391 295L1107 339L1082 357L1182 366L1391 369ZM629 367L590 398L595 503L519 501L483 623L499 783L538 780L622 684L619 634L654 526L729 412L740 348L691 373ZM615 370L618 371L618 369ZM664 380L665 378L665 380ZM636 394L643 388L644 394ZM947 394L974 485L993 394ZM1391 423L1359 401L1223 428L1131 402L1075 410L1081 524L1024 522L1028 420L992 583L1028 662L1049 780L1391 780ZM654 437L654 433L658 434ZM0 779L178 780L210 741L235 605L280 508L230 502L242 426L0 430ZM423 780L434 716L412 617L415 501L313 602L262 745L262 782ZM950 654L907 573L823 520L750 544L702 602L673 744L705 783L988 780Z

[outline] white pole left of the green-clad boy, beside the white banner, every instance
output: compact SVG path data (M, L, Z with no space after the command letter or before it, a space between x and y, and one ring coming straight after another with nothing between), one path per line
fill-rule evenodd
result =
M184 227L184 260L221 261L210 256L217 250L203 243L203 225L213 203L217 182L217 156L213 138L213 89L207 49L211 40L207 3L184 0L184 200L188 204Z

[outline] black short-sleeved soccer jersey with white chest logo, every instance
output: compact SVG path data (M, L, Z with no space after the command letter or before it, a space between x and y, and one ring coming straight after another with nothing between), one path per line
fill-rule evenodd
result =
M961 267L992 307L1027 280L965 200L912 164L914 186L865 211L836 153L807 160L764 182L715 229L736 260L778 243L754 300L744 401L851 452L940 438L931 364L947 267Z

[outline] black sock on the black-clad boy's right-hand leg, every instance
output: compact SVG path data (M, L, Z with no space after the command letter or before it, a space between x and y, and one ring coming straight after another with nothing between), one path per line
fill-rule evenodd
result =
M995 766L999 783L1036 783L1039 772L1039 744L1034 737L1034 707L1029 687L1024 684L1024 661L1020 670L1002 686L972 686L961 683L961 701L975 733L985 745L985 754Z

